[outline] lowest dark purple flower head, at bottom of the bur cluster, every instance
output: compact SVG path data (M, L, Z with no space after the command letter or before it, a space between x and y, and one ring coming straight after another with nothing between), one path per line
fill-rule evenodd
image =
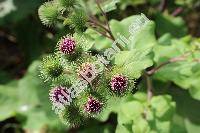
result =
M99 113L103 107L103 103L96 100L92 96L88 98L88 101L85 105L85 111L90 113Z

